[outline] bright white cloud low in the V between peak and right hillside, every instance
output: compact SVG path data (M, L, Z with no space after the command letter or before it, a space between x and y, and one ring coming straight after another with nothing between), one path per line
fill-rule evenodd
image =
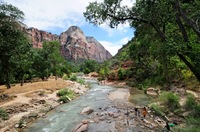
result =
M117 54L118 50L122 48L122 45L127 44L130 39L128 37L122 38L118 42L99 41L105 49L107 49L113 56Z

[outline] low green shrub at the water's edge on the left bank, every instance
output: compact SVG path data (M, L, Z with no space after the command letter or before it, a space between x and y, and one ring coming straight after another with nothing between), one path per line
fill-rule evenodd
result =
M74 91L68 88L64 88L58 91L57 96L60 97L58 101L63 101L64 103L66 103L68 101L71 101L71 99L75 98L76 94L74 93Z

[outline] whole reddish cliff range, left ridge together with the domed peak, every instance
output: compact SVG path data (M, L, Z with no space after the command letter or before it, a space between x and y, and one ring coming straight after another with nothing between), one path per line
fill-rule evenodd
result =
M60 36L36 28L26 28L34 48L42 48L44 41L59 41L61 54L69 60L92 59L98 62L110 59L112 55L93 37L86 37L77 26L71 26Z

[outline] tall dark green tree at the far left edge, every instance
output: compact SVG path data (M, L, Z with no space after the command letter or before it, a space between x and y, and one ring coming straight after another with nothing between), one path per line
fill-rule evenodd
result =
M20 26L23 16L17 7L0 2L0 64L7 88L14 77L15 59L28 52L29 42Z

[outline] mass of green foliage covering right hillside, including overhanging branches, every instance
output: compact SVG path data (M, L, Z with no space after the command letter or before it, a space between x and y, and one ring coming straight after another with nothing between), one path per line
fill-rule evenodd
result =
M199 22L192 22L199 19L200 2L138 0L132 7L122 3L121 0L92 2L84 16L94 25L109 22L113 28L128 22L136 29L134 43L129 45L136 82L160 76L170 84L182 76L183 70L191 71L200 81ZM126 60L129 52L121 50L113 63L121 64L118 60Z

